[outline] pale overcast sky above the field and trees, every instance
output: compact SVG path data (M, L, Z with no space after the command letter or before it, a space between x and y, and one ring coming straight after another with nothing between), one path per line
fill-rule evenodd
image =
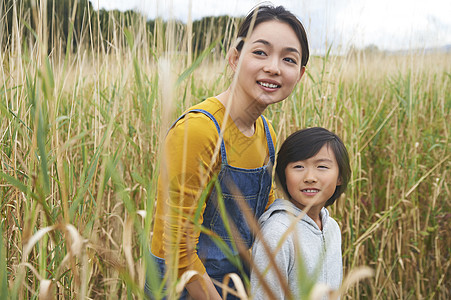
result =
M255 0L90 0L94 8L136 9L148 18L244 16ZM274 0L303 22L312 52L326 45L406 50L451 45L451 0Z

